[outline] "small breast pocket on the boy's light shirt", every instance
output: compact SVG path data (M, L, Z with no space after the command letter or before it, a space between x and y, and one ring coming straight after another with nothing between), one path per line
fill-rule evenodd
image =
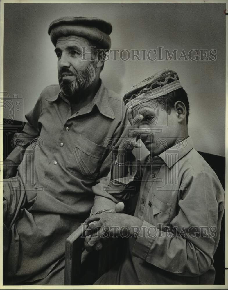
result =
M151 194L151 203L152 224L161 228L163 226L168 226L170 222L170 212L172 205L162 202L153 193Z

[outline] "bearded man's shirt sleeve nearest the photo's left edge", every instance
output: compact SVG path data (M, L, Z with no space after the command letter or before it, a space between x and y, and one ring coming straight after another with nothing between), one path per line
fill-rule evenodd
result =
M31 142L40 135L40 126L38 119L42 111L41 95L37 100L35 107L25 115L27 120L21 133L15 133L13 137L14 150L6 158L7 162L15 164L21 163L21 153L24 153Z

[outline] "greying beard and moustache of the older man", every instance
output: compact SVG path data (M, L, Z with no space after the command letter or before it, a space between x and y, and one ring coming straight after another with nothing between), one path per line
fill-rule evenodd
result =
M74 81L62 79L62 73L70 73L76 76ZM87 68L83 71L70 71L62 68L58 74L60 90L66 97L72 97L79 91L85 90L96 78L96 62L90 61Z

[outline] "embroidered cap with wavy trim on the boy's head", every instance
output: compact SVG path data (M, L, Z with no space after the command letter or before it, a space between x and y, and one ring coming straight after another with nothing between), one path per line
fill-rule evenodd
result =
M134 85L125 93L123 101L128 108L133 108L179 88L182 88L182 85L177 73L174 70L164 69Z

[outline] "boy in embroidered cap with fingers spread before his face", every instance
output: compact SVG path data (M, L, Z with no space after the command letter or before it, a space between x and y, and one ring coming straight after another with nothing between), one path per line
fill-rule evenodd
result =
M116 202L139 196L134 216L104 212L85 221L95 221L88 249L107 233L130 237L123 260L96 284L213 284L224 191L188 136L188 97L177 73L160 71L124 102L132 128L128 146L114 148L106 191ZM138 163L137 138L150 151Z

